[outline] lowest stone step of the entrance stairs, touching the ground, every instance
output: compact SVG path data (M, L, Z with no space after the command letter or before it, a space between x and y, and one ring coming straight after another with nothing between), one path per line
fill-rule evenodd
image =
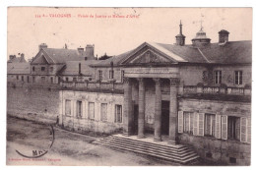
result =
M160 154L147 152L145 150L135 149L134 147L133 148L123 147L123 146L114 145L114 144L111 144L111 143L98 143L98 144L106 145L106 146L109 146L109 147L112 147L112 148L117 148L117 149L120 149L120 150L128 150L128 151L132 151L132 152L136 152L136 153L146 154L146 155L150 155L150 156L154 156L154 157L158 157L158 158L162 158L162 159L165 159L165 160L170 160L170 161L174 161L174 162L178 162L178 163L182 163L182 164L186 164L187 162L190 162L192 160L195 160L195 159L199 158L199 156L194 156L194 157L187 158L186 160L180 160L180 159L175 158L175 157L169 157L169 156L167 157L167 156L162 156Z

